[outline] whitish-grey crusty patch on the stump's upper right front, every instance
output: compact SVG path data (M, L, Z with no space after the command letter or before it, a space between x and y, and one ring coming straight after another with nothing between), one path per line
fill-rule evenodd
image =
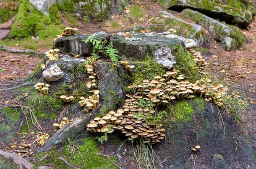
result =
M172 68L176 63L171 49L167 46L161 46L158 48L154 54L154 59L168 69Z

